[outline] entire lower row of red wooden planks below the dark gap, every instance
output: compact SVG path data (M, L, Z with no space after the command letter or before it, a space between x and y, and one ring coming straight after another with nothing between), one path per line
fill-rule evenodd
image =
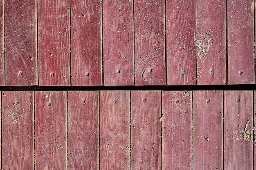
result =
M2 169L254 166L253 91L1 94Z

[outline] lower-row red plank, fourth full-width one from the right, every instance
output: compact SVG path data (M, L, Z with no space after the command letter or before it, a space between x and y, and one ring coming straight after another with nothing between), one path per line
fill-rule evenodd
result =
M132 169L161 170L161 92L131 92Z

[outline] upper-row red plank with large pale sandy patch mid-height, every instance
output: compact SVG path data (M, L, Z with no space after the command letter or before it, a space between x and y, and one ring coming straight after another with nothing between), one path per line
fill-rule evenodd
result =
M197 84L226 84L226 1L196 0L196 28Z

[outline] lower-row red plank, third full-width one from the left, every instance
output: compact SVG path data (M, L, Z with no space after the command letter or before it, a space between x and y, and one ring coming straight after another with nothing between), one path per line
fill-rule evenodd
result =
M99 169L99 92L68 92L68 169Z

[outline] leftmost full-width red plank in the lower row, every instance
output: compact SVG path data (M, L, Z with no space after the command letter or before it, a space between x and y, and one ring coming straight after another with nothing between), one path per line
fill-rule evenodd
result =
M2 169L34 169L34 92L2 92Z

